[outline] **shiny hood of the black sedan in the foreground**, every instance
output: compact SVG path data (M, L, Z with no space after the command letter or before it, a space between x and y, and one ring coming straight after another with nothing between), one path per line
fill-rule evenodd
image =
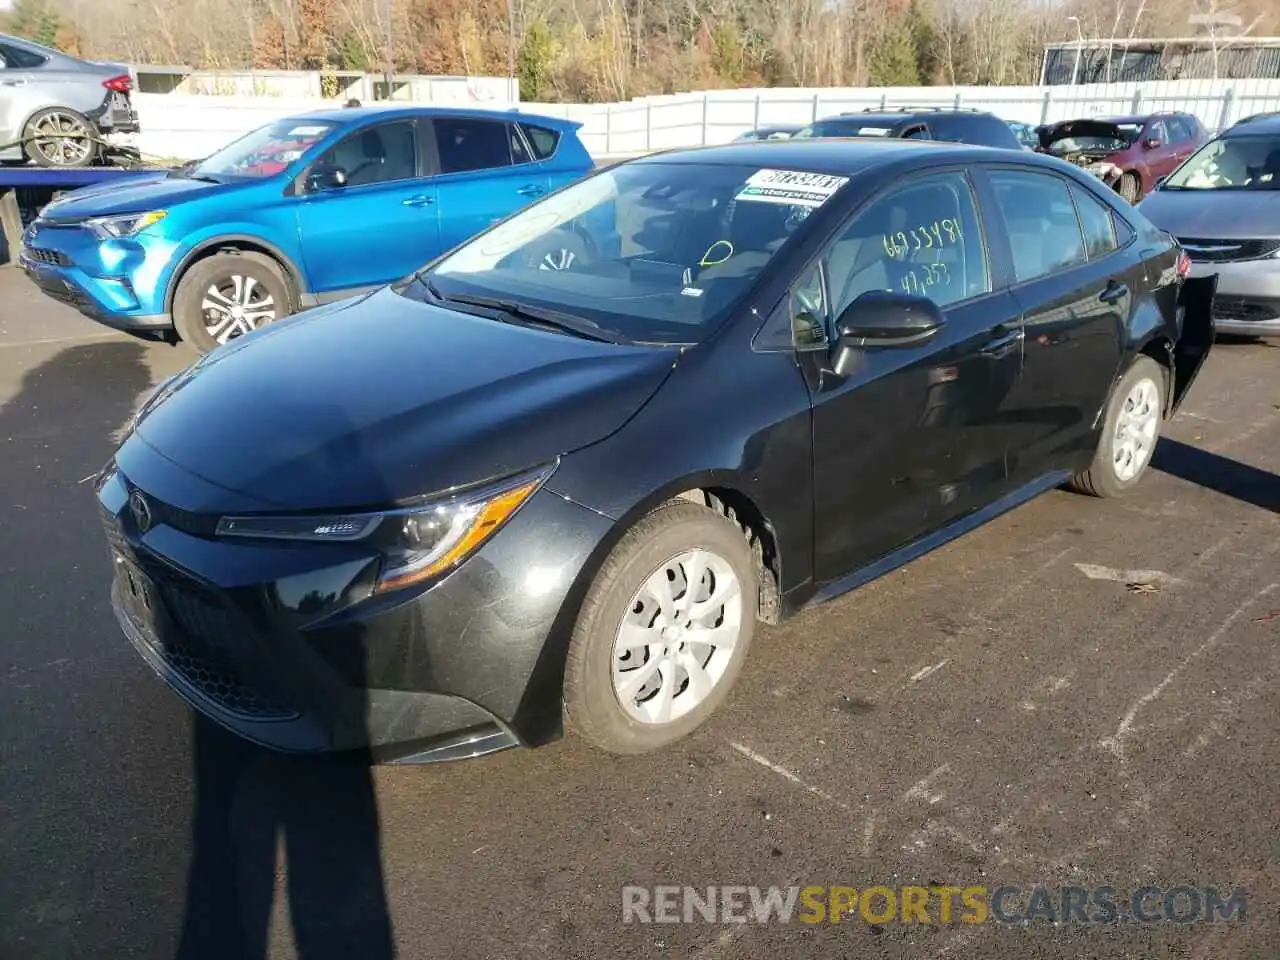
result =
M288 509L383 506L604 439L677 356L457 314L384 288L207 355L143 407L129 443Z

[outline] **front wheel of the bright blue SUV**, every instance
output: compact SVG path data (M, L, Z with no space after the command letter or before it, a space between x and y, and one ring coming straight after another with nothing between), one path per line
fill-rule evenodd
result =
M209 353L294 312L293 302L288 278L271 257L224 251L197 260L182 275L173 296L173 325L188 347Z

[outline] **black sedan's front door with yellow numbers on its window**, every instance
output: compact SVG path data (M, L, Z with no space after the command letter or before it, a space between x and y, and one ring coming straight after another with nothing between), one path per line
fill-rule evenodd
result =
M844 376L801 353L813 396L814 568L836 580L1005 488L1006 401L1021 366L1012 296L992 291L973 184L961 172L891 187L822 259L828 328L860 294L942 307L924 344L865 348ZM801 285L814 289L810 273ZM810 293L810 300L813 298Z

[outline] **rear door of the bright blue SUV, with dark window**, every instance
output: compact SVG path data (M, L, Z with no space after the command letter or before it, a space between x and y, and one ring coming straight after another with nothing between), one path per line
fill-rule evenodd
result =
M448 115L430 120L440 246L451 250L550 189L515 123Z

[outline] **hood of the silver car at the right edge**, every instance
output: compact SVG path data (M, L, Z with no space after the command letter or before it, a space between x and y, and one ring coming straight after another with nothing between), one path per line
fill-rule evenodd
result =
M1138 211L1175 237L1270 239L1280 237L1280 191L1160 189Z

